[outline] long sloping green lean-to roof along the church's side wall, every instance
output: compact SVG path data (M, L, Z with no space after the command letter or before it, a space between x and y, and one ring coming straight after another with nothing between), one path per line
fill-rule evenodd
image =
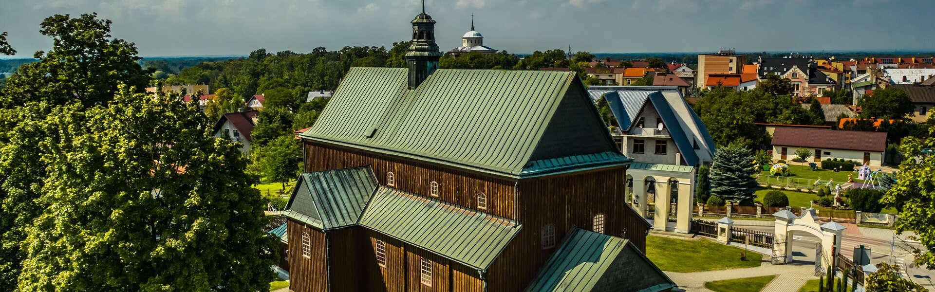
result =
M360 224L477 270L519 232L510 220L381 186Z

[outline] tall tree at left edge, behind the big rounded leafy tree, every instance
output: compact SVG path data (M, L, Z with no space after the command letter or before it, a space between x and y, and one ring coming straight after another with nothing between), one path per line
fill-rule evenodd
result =
M141 91L149 81L134 45L110 38L109 31L110 22L94 14L47 18L40 32L52 38L51 50L37 51L39 60L21 66L0 88L0 290L18 285L25 227L42 211L36 199L50 166L39 145L58 139L46 119L56 107L104 105L119 84Z

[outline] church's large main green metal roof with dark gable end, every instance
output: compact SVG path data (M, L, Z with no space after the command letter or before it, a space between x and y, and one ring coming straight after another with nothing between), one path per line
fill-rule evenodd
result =
M530 160L616 150L571 72L439 69L415 90L407 77L353 67L300 136L513 177ZM591 128L602 131L575 137Z

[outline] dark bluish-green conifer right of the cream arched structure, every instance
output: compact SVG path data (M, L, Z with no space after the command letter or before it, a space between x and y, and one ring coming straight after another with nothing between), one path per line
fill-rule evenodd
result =
M733 202L752 202L757 186L754 156L739 145L718 148L711 167L711 195Z

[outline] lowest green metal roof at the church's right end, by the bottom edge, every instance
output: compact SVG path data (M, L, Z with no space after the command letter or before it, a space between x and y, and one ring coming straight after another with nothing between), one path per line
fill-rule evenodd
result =
M525 291L655 292L675 286L629 241L575 228Z

